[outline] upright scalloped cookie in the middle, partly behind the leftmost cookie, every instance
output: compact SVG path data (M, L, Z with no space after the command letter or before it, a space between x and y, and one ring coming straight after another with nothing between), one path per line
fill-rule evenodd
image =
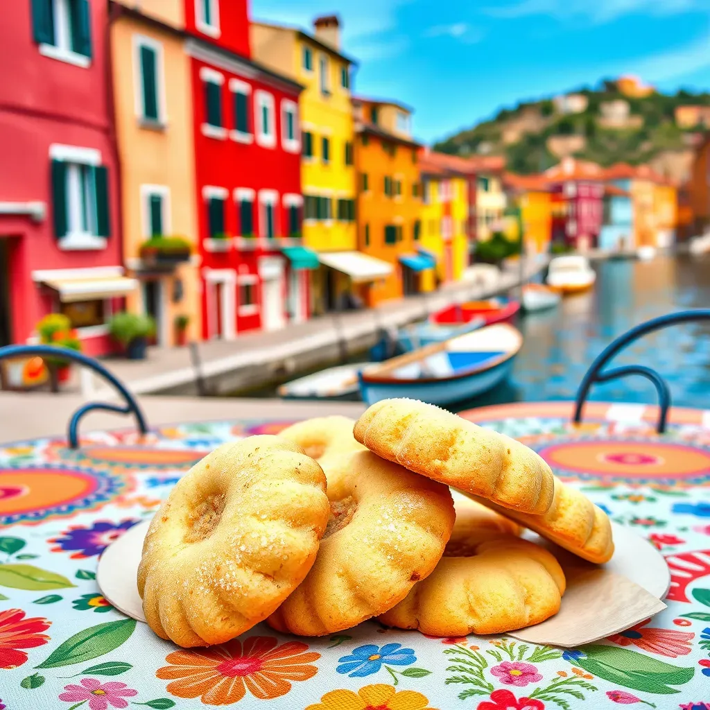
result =
M320 636L383 613L432 572L454 525L446 486L368 451L329 470L328 498L315 564L267 619L276 630Z

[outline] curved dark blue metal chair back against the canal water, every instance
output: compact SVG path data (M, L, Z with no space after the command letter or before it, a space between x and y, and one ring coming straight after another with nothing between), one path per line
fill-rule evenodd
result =
M640 325L630 329L628 332L620 335L615 341L606 346L606 348L601 351L601 354L599 354L596 360L591 364L589 370L586 371L586 374L584 375L584 378L582 378L581 384L579 385L579 390L577 390L577 398L574 401L574 415L572 417L574 423L579 424L579 422L581 422L582 408L584 408L587 395L589 395L589 389L595 382L609 382L620 377L626 377L627 375L640 375L650 380L656 388L656 392L658 393L658 405L660 407L660 416L658 417L656 430L659 434L665 432L668 410L670 409L671 404L670 389L668 388L666 381L655 370L652 370L650 367L646 367L645 365L626 365L606 370L604 372L601 372L601 368L603 368L608 361L613 359L613 357L626 348L628 344L633 343L640 337L643 337L648 333L652 333L655 330L665 328L669 325L677 325L679 323L687 323L694 320L710 320L710 309L699 308L697 310L679 311L677 313L669 313L668 315L653 318L652 320L641 323Z

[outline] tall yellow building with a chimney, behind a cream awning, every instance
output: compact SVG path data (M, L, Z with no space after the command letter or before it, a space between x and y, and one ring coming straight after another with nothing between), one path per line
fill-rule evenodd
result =
M305 89L300 95L301 184L305 200L303 244L319 255L354 252L354 120L350 94L353 60L340 51L335 16L318 18L313 34L267 23L251 23L254 60L290 77ZM321 260L311 272L311 312L333 310L352 287L342 258ZM344 267L343 267L344 268ZM352 270L351 270L352 271Z

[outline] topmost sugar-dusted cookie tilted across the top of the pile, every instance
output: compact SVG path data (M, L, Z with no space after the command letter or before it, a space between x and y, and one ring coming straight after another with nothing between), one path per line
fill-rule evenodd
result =
M540 515L552 504L552 471L535 452L434 405L383 400L354 435L383 459L505 508Z

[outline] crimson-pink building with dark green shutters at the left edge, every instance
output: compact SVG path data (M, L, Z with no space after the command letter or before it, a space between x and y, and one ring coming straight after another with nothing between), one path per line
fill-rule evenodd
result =
M107 3L7 2L0 23L0 345L63 312L89 354L124 278L105 46Z

